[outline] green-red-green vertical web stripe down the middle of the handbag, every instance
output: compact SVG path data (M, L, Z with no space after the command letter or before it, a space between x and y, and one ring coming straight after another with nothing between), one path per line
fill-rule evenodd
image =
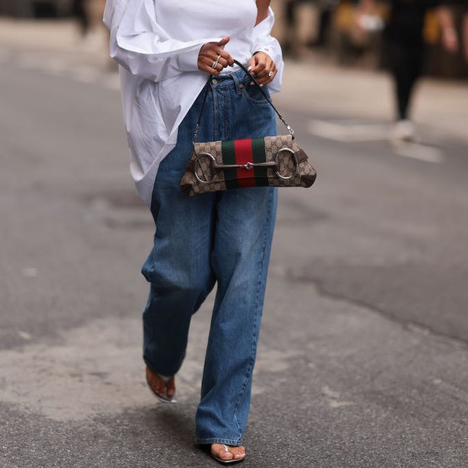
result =
M223 141L221 145L223 164L247 164L266 162L265 140L263 138L244 138ZM226 188L267 186L267 168L223 169Z

